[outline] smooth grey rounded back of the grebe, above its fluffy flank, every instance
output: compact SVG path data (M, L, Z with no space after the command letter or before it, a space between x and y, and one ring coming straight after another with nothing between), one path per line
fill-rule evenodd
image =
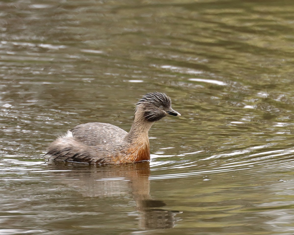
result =
M107 147L120 143L127 134L123 129L102 122L88 122L71 129L74 140L93 147Z

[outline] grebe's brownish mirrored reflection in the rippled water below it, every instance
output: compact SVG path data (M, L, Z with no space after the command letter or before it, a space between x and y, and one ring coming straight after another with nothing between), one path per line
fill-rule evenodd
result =
M180 211L161 209L166 204L150 196L150 164L137 162L120 165L82 165L72 162L53 162L54 168L70 169L78 180L64 181L85 197L107 197L131 194L139 212L142 229L173 228ZM67 175L69 177L69 175Z

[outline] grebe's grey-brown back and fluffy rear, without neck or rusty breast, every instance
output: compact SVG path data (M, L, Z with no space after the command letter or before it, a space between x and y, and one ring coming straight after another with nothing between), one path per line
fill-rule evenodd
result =
M100 122L89 122L71 129L71 136L60 137L46 150L49 160L109 163L109 149L120 145L127 134L121 128Z

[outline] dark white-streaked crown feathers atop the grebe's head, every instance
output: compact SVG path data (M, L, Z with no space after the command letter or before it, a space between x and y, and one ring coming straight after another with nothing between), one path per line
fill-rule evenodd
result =
M168 97L165 93L150 92L142 96L142 98L137 103L137 107L140 104L153 104L158 107L162 105L165 108L168 108L171 107L171 98Z

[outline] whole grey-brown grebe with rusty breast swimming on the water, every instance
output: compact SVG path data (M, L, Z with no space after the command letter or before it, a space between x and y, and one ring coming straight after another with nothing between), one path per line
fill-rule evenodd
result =
M51 143L49 160L119 164L150 160L148 131L166 115L180 116L164 93L147 93L136 105L129 132L101 122L78 125Z

